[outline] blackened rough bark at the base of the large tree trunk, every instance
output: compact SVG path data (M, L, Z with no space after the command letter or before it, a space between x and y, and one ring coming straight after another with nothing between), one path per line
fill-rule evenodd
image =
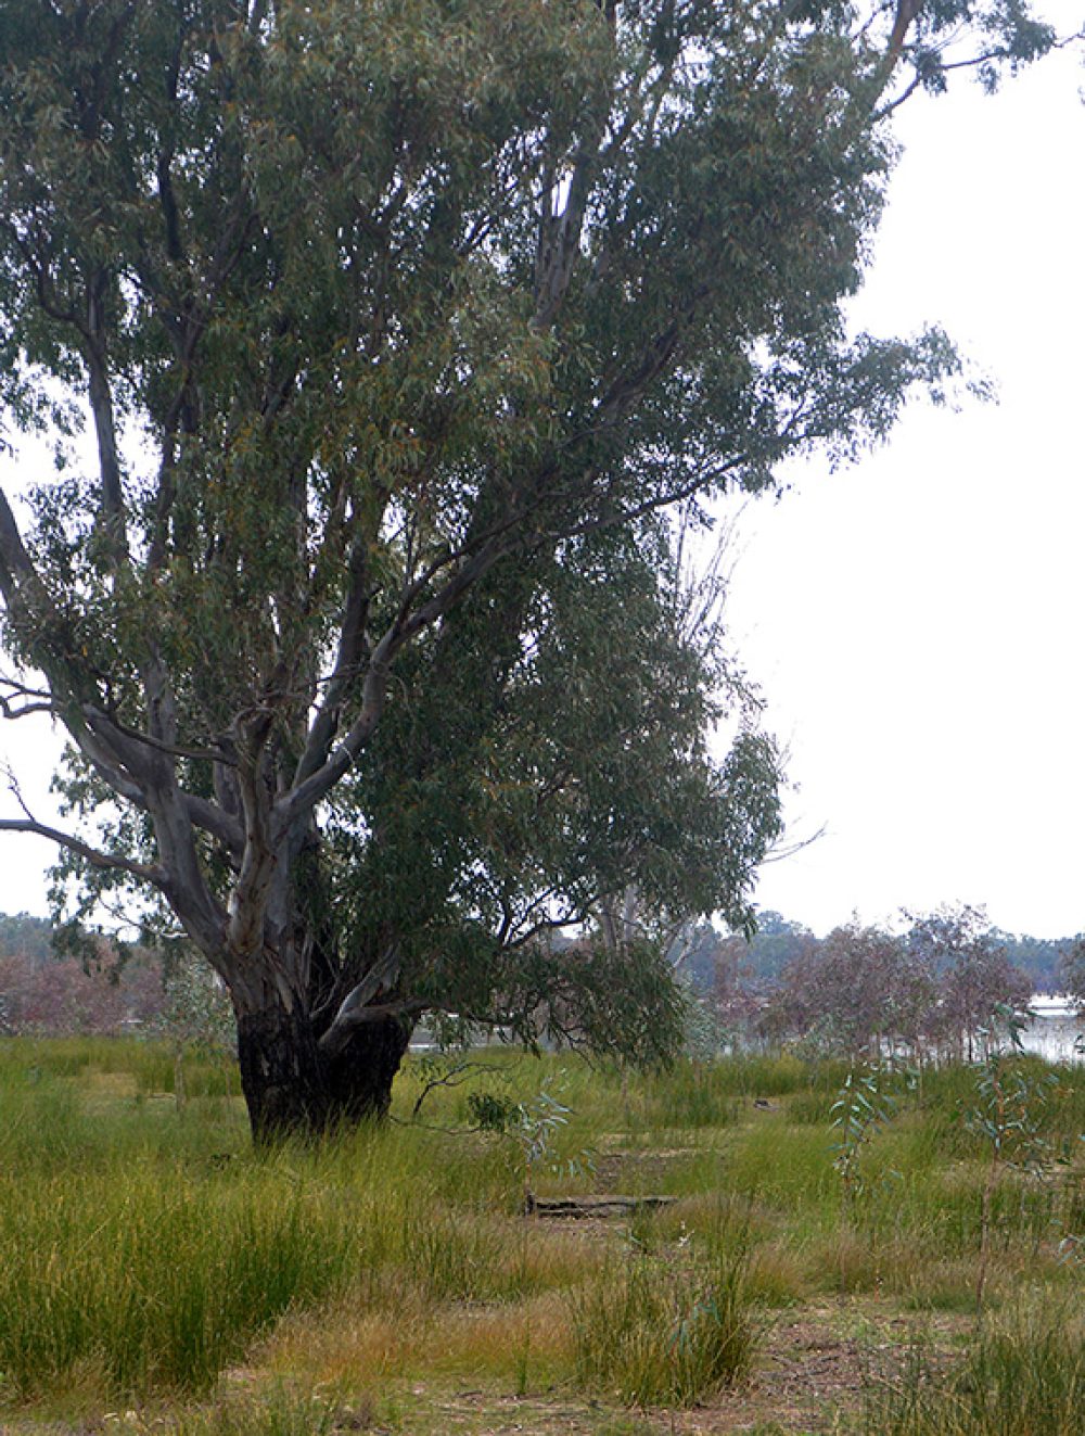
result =
M342 1053L326 1057L306 1012L276 1007L238 1015L241 1090L254 1142L314 1137L385 1117L409 1040L406 1024L385 1018L359 1027Z

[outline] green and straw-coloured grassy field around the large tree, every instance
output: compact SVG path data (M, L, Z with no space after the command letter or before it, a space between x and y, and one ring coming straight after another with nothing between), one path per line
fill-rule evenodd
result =
M442 1076L257 1156L225 1063L0 1041L0 1430L1085 1430L1081 1068Z

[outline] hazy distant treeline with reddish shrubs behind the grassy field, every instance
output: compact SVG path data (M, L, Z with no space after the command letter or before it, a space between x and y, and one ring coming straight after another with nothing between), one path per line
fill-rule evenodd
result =
M198 959L194 971L139 949L119 961L99 938L79 961L52 941L46 919L0 915L0 1034L222 1025L222 995ZM1033 992L1068 991L1085 1010L1085 941L1013 936L966 906L911 916L897 933L852 922L817 938L776 912L749 941L702 923L672 959L729 1043L970 1057L992 1014Z

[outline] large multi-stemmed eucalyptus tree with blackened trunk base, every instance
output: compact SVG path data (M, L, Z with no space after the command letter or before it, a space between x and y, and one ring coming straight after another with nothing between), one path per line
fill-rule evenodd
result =
M179 920L258 1137L383 1110L423 1011L666 1047L650 955L534 938L629 883L745 912L775 755L708 755L667 513L953 376L841 302L969 27L1052 43L1019 0L0 4L0 396L95 449L0 500L6 714L112 800L1 826Z

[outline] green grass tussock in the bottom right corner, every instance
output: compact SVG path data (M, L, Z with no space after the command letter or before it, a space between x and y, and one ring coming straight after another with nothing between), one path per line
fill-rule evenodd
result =
M982 1330L952 1370L910 1354L904 1376L867 1399L868 1436L1081 1436L1085 1327L1066 1313Z

